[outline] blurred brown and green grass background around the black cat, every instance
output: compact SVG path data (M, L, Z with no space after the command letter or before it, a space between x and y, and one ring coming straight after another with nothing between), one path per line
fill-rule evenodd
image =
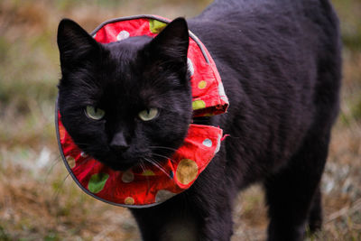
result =
M127 209L88 197L69 177L54 130L60 79L58 23L91 32L132 14L192 17L210 0L0 1L0 240L140 240ZM322 181L324 229L311 240L361 240L361 1L333 0L341 20L344 79ZM263 240L257 186L239 195L233 240Z

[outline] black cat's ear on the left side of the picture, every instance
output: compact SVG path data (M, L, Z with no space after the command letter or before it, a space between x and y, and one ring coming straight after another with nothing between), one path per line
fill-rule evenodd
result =
M97 53L100 45L78 23L63 19L58 27L58 47L61 68L74 66Z

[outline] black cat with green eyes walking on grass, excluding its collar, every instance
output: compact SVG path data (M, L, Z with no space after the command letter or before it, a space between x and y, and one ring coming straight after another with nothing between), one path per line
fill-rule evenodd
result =
M306 226L321 226L319 181L338 115L340 38L328 0L216 0L154 40L109 44L63 20L64 126L83 151L116 170L153 152L171 155L192 121L188 28L217 63L230 102L227 114L193 121L230 136L190 190L131 210L143 239L229 240L233 200L255 182L266 192L268 240L303 239ZM152 109L153 120L139 118Z

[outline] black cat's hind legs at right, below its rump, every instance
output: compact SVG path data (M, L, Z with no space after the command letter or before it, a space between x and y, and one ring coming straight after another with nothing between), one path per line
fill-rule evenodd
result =
M328 146L329 134L310 134L289 165L264 181L269 241L303 240L308 218L312 226L320 221L319 181Z

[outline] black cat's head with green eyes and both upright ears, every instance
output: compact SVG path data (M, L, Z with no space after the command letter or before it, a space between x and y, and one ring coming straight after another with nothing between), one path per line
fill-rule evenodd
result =
M191 120L189 33L177 19L155 39L97 43L77 23L60 22L63 125L85 153L115 170L162 162Z

